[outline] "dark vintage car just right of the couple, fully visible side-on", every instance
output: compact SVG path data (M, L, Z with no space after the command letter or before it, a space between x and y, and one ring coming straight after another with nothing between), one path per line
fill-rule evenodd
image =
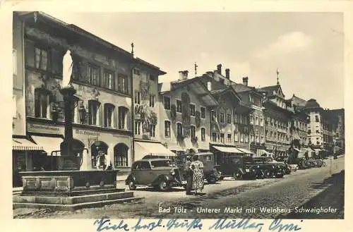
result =
M253 162L252 157L241 155L223 155L218 161L218 171L222 178L232 176L239 180L242 178L256 179L263 178L263 172Z

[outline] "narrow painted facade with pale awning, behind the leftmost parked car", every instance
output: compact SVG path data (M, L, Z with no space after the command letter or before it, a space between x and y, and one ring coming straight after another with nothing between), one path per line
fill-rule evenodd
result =
M160 68L135 59L133 66L133 160L150 154L170 153L160 143L160 105L158 78L164 75Z

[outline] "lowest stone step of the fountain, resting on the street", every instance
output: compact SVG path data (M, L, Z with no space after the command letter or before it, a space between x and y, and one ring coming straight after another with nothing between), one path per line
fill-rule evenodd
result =
M91 207L103 207L107 204L119 204L124 202L131 202L133 200L140 200L143 197L128 197L124 199L115 199L115 200L102 200L97 202L85 202L78 204L38 204L38 203L13 203L13 209L18 208L34 208L34 209L52 209L52 210L61 210L61 211L73 211L76 209L82 208L91 208Z

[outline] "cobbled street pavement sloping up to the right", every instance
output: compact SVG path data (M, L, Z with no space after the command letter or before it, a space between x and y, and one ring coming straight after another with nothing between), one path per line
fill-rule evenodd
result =
M342 218L342 197L344 196L342 179L344 176L342 178L340 172L345 167L344 157L333 160L332 166L330 160L326 160L326 163L328 165L325 167L299 170L281 179L254 181L230 179L214 185L205 185L203 191L205 195L203 196L186 195L183 188L173 188L167 193L160 193L152 188L138 188L134 191L134 195L145 198L135 202L78 209L73 212L53 212L49 209L29 212L28 209L27 211L14 209L13 213L14 218L59 219L98 219L102 216L109 216L112 219L136 218L138 216L145 218L192 218L198 216L209 219L220 217L270 219L275 217L306 218L306 215L309 214L310 218ZM332 174L335 175L332 176ZM343 183L343 185L336 188L335 184L337 183ZM124 183L119 185L124 186ZM330 193L325 194L326 191ZM335 195L337 195L337 199L335 199ZM334 209L321 210L335 210L335 212L320 214L294 212L295 207L299 207L298 210L307 211L314 207L328 208L331 204L331 208ZM170 209L170 212L159 212L159 206L160 209ZM177 207L176 211L174 207Z

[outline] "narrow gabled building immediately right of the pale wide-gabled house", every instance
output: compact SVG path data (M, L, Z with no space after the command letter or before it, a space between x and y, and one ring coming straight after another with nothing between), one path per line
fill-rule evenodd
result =
M249 115L253 109L234 90L229 68L225 69L223 75L222 65L219 64L217 70L205 73L201 79L218 102L217 108L211 111L211 151L223 152L222 147L235 147L233 153L253 155L249 149Z

